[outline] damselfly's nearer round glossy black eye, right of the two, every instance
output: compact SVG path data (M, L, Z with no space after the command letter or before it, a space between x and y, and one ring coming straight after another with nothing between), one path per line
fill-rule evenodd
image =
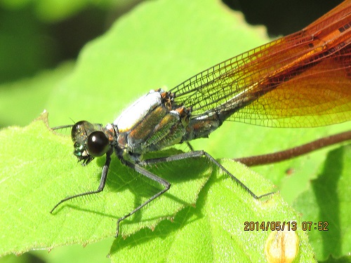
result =
M110 141L107 139L105 133L96 130L88 136L86 148L91 156L102 156L110 149Z

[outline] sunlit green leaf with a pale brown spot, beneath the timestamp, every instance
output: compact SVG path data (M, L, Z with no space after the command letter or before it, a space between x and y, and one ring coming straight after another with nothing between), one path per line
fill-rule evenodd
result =
M267 182L237 163L225 161L235 175L253 189ZM241 177L242 176L242 177ZM251 182L251 183L250 183ZM172 222L161 222L154 231L144 229L126 238L116 239L112 261L142 262L265 262L265 242L271 231L244 231L245 222L290 222L300 216L289 208L279 194L255 201L223 175L213 173L197 199L196 207L183 209ZM303 231L296 262L314 262L313 252ZM186 256L185 256L186 255Z

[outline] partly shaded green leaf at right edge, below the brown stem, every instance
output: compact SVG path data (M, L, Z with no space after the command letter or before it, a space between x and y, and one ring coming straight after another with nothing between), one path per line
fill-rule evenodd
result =
M350 252L350 159L350 145L331 151L319 169L318 178L294 204L303 214L303 221L312 222L310 242L319 260ZM318 229L318 222L323 222L322 229Z

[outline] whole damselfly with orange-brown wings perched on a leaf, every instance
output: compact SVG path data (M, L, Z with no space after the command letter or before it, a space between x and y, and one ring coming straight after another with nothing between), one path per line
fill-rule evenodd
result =
M241 187L248 187L205 151L143 159L150 151L208 137L223 121L270 127L313 127L351 119L351 2L344 1L311 25L225 60L165 91L150 90L105 127L79 121L70 127L74 155L83 165L106 155L100 185L62 199L98 194L105 187L113 152L121 163L164 189L117 221L164 194L171 184L143 166L205 156ZM190 144L189 144L190 145ZM51 213L53 212L51 210Z

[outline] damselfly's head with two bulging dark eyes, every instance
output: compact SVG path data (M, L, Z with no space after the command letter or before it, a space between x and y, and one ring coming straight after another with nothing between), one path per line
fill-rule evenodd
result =
M72 126L73 154L83 165L90 163L95 157L102 156L110 149L110 140L105 128L100 124L79 121Z

